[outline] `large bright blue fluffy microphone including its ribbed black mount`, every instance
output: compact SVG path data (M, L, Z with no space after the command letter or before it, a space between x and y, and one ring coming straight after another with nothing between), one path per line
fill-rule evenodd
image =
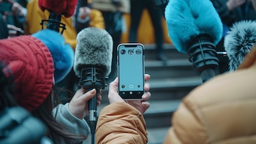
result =
M222 38L222 21L211 1L170 0L165 7L168 36L203 82L215 76L219 59L215 45Z

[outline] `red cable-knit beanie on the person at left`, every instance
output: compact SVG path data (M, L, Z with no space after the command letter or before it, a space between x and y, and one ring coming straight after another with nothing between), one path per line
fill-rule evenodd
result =
M20 36L0 40L0 60L12 70L18 105L33 111L53 87L53 58L37 38Z

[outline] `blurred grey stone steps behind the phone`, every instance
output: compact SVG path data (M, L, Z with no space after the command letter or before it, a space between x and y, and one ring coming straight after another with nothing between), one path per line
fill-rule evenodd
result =
M151 75L151 107L144 114L148 132L148 144L160 144L170 127L170 119L181 99L202 83L196 75L187 54L179 53L171 44L165 44L165 54L169 58L165 64L157 61L155 45L145 46L145 71ZM102 91L102 107L108 105L108 87Z

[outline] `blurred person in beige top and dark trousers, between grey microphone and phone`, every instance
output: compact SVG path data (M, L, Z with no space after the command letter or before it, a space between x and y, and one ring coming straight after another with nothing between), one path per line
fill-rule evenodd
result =
M102 12L105 20L105 29L113 38L113 57L109 81L117 76L116 48L121 42L121 35L126 29L123 14L130 12L129 0L92 0L91 6Z

